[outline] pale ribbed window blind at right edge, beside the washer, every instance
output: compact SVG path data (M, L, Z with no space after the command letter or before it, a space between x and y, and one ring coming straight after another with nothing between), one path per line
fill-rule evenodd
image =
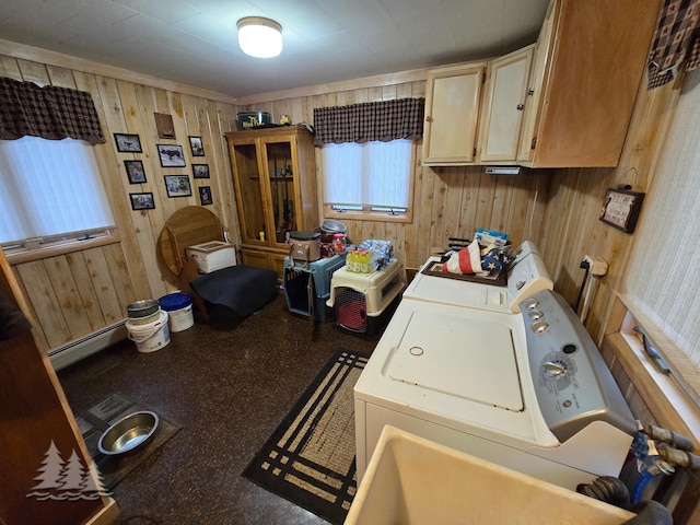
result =
M700 399L700 71L686 78L634 233L623 299ZM639 315L638 315L639 314ZM645 329L648 327L644 326ZM653 339L653 337L652 337Z

